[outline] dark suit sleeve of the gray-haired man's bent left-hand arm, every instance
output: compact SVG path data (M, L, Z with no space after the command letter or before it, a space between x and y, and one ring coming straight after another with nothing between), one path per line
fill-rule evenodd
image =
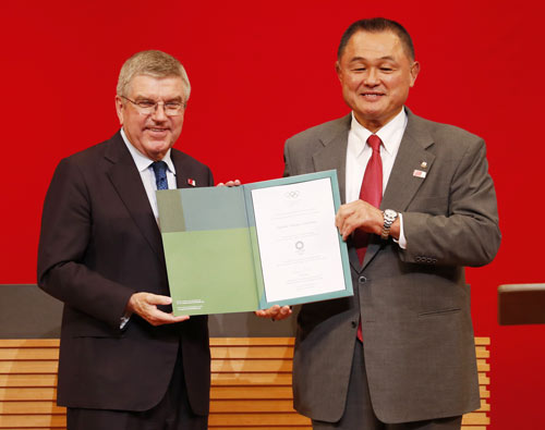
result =
M84 263L93 242L93 208L78 167L62 160L44 202L38 285L65 305L119 329L133 290Z

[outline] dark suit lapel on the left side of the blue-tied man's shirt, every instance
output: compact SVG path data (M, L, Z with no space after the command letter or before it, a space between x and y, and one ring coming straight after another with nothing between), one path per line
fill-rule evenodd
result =
M142 183L141 174L120 133L117 133L109 140L109 147L105 157L111 162L111 168L107 171L107 175L116 188L119 198L125 205L131 218L152 249L154 249L159 260L164 262L162 241L157 221L155 220L144 184Z

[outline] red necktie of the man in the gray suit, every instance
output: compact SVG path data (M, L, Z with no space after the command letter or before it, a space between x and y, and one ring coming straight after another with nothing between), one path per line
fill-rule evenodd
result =
M376 134L372 134L367 138L367 145L373 149L373 153L371 155L370 161L367 161L367 167L365 168L365 173L363 175L362 187L360 189L360 199L367 201L375 208L379 208L380 201L383 200L383 160L380 158L382 143L380 137ZM363 263L368 242L368 233L360 230L354 232L354 244L358 251L358 258L360 259L360 265ZM358 325L358 339L363 342L361 319L360 324Z

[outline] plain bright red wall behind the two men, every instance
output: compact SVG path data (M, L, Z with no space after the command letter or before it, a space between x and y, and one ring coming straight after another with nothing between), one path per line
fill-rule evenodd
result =
M253 182L281 175L287 137L348 112L334 70L344 28L391 17L422 63L408 106L488 145L504 239L496 260L468 277L475 333L492 336L492 429L545 428L545 325L498 327L496 310L499 284L545 281L545 14L532 3L2 2L0 283L35 282L55 165L117 131L117 76L130 54L181 59L193 93L177 147L218 182Z

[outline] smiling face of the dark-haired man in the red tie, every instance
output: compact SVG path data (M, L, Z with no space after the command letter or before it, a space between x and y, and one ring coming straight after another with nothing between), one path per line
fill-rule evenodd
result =
M401 111L420 71L391 32L354 33L336 67L344 101L373 133Z

